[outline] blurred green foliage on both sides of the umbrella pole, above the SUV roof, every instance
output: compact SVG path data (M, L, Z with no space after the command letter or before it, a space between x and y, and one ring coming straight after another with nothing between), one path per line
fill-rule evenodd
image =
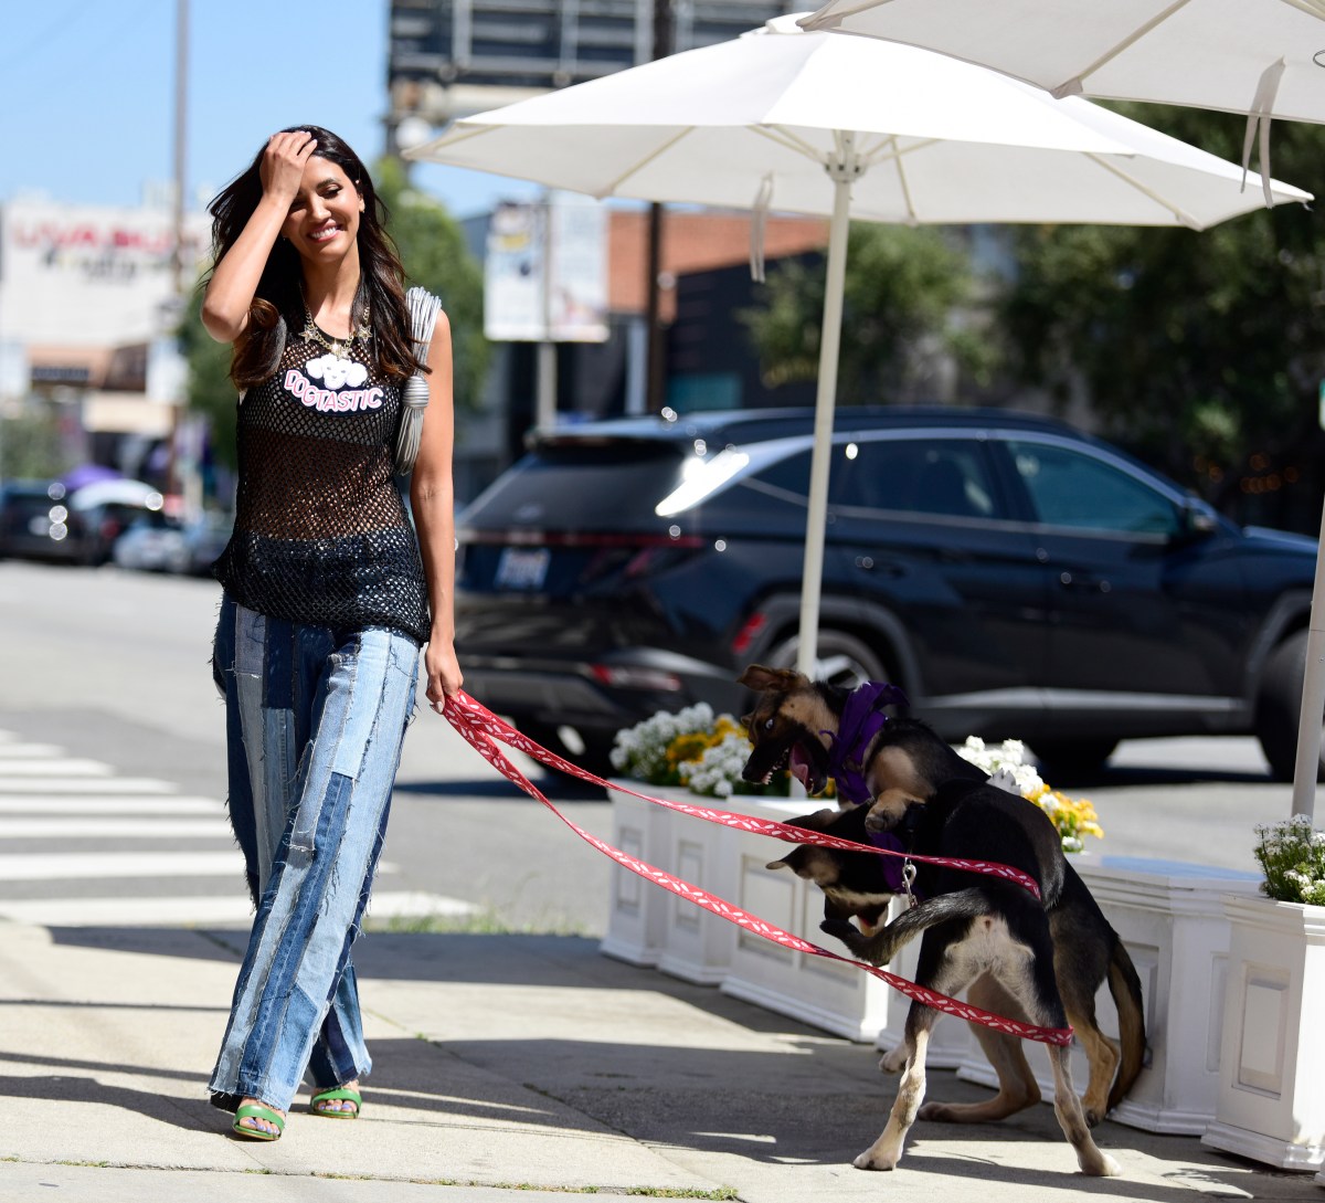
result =
M955 319L975 299L977 280L950 235L856 223L845 273L841 403L931 396L935 363L949 355L978 380L988 375L991 343ZM770 268L759 305L739 314L767 384L818 375L824 274L818 257L783 261Z

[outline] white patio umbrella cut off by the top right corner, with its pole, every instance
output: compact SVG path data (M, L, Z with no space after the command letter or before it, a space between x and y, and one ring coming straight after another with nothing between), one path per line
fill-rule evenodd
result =
M829 0L800 24L941 52L1055 95L1246 114L1243 164L1259 131L1267 172L1272 119L1325 122L1325 0ZM1317 556L1295 815L1316 808L1322 711L1325 563Z

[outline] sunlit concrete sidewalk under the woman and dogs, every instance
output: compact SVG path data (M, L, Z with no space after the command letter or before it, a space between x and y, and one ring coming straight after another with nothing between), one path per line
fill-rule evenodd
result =
M364 938L363 1118L311 1117L305 1094L284 1139L238 1141L204 1084L242 939L0 923L0 1199L1325 1200L1310 1175L1109 1122L1124 1177L1084 1178L1048 1106L918 1122L897 1171L853 1170L896 1088L872 1049L576 937ZM986 1093L930 1074L930 1098Z

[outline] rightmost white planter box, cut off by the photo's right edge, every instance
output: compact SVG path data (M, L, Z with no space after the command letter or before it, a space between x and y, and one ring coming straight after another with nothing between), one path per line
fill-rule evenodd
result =
M1202 1143L1325 1166L1325 906L1228 898L1218 1106Z

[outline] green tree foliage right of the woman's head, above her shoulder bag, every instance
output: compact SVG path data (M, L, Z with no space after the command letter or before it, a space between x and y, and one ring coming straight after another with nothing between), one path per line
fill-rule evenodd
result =
M477 409L490 347L484 338L484 273L447 209L409 188L398 159L382 159L372 178L391 211L388 231L411 284L441 298L450 319L456 408Z

